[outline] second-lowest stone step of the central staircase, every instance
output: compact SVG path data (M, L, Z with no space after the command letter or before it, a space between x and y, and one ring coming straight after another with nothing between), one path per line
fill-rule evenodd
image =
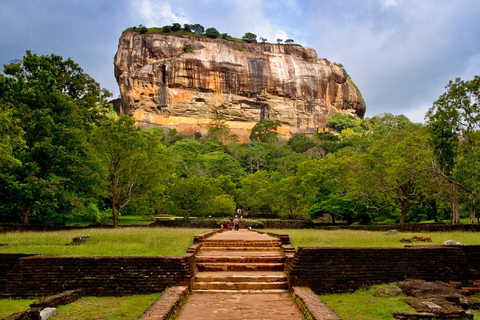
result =
M256 272L198 272L195 275L198 282L281 282L287 281L282 271Z

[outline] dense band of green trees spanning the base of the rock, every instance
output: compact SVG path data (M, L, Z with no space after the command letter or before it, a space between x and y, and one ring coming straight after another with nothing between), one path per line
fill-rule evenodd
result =
M478 211L479 77L447 86L425 126L403 115L337 114L330 132L281 140L281 124L262 119L240 144L222 115L204 137L108 117L108 93L70 59L27 52L4 73L3 222L111 216L116 226L120 213L208 217L242 208L250 217L474 223Z

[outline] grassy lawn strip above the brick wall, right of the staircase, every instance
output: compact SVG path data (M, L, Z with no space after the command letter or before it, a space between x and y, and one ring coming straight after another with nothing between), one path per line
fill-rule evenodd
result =
M400 239L412 236L429 236L433 242L416 242L413 245L441 245L445 240L455 240L466 245L480 245L479 232L399 232L385 235L383 231L275 229L268 230L290 235L291 244L298 247L404 247Z

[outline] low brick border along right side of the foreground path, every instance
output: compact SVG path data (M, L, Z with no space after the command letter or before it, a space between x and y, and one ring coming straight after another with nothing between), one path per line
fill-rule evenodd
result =
M309 287L292 287L290 293L308 320L342 320Z

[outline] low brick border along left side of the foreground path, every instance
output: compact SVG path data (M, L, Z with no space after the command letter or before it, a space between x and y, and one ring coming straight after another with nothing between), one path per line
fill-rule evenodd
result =
M188 298L188 287L170 287L145 311L138 320L173 320Z

